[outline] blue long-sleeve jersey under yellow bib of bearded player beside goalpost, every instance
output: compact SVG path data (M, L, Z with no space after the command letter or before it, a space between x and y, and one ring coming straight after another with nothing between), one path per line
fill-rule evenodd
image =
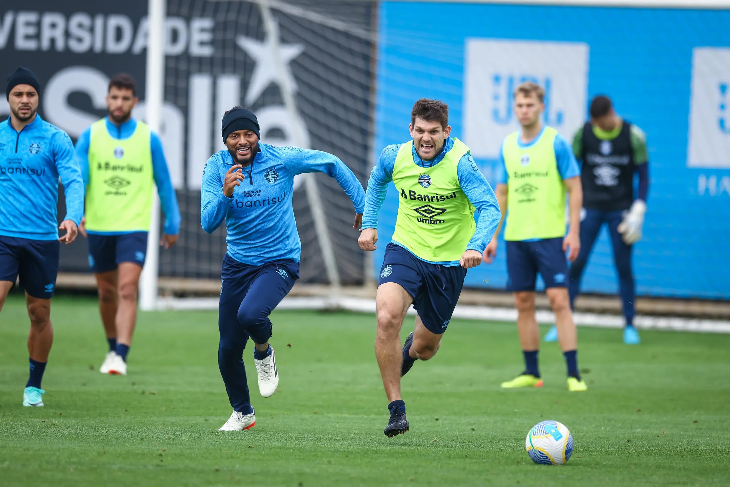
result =
M121 125L112 123L109 117L107 121L107 132L112 139L128 139L137 129L137 120L130 118ZM91 127L82 132L76 141L76 155L79 158L81 172L84 178L84 188L89 183L89 142L91 140ZM170 172L167 168L165 153L162 150L162 141L155 132L150 131L150 149L152 150L152 173L157 185L157 193L160 195L160 206L165 214L165 223L163 226L164 233L168 235L177 235L180 233L180 207L177 206L177 196L172 187L170 180ZM126 234L128 231L89 231L90 234Z

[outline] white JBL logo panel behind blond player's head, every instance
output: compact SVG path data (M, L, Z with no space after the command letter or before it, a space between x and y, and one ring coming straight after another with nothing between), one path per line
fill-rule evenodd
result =
M466 39L464 139L473 156L497 158L502 139L519 129L512 93L526 81L545 89L543 123L570 139L585 116L588 45Z

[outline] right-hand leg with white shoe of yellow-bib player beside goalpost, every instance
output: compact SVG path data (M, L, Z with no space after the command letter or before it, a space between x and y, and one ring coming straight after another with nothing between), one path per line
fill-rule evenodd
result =
M132 343L134 325L137 323L137 296L139 294L139 275L142 266L131 262L119 264L118 304L117 304L117 355L112 359L110 374L126 375L127 352Z

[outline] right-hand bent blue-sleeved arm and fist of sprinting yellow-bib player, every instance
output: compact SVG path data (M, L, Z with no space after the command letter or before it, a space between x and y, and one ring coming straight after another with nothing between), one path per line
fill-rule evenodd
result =
M458 182L466 198L469 199L479 213L477 229L466 245L466 251L461 256L461 266L469 269L478 266L487 244L491 241L499 221L502 219L502 212L499 210L494 191L477 167L472 156L466 154L458 162L456 168Z

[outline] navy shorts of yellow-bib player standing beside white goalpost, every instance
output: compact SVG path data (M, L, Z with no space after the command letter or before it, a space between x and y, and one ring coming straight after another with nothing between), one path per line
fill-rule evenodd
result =
M88 243L89 266L93 272L116 270L122 262L145 265L146 231L121 235L88 234Z

